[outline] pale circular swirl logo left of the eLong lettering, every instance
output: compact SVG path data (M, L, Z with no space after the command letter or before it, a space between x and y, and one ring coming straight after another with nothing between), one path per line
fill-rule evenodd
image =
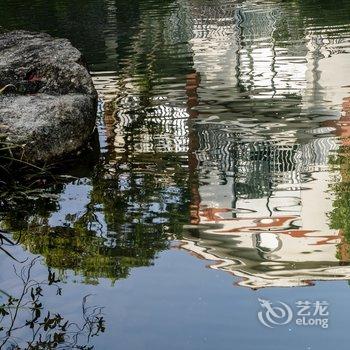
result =
M266 327L282 326L288 324L293 318L293 311L289 305L278 301L275 305L270 300L259 299L263 308L258 312L259 321Z

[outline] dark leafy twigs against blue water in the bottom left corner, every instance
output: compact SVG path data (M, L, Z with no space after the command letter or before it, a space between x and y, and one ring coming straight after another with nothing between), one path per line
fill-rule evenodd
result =
M21 285L16 296L0 292L7 299L0 305L0 348L93 349L89 345L91 338L105 331L102 308L88 306L88 296L84 297L80 324L47 310L43 304L45 287L56 288L58 296L62 290L55 273L50 270L47 281L32 278L37 260L33 259L19 271L14 267Z

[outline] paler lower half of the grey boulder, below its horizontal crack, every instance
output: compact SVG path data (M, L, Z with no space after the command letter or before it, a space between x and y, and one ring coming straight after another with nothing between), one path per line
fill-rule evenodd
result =
M83 94L5 96L0 128L16 154L47 161L81 147L95 126L94 118L86 118L93 110L93 100Z

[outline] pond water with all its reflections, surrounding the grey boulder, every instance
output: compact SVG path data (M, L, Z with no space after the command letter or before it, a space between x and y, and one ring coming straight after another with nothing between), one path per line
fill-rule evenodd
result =
M349 14L350 0L2 0L0 31L69 38L100 98L88 153L2 185L18 244L1 290L39 256L33 276L62 288L45 307L105 307L96 349L348 349Z

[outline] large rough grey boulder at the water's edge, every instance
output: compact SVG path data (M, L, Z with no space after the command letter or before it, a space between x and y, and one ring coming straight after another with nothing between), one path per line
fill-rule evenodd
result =
M1 35L1 90L1 142L28 161L80 148L95 127L97 93L81 53L66 39Z

